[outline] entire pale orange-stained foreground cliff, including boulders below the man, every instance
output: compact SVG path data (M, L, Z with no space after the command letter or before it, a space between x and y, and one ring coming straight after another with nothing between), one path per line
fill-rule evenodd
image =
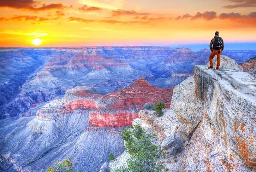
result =
M170 171L256 171L256 80L223 59L218 71L196 65L174 88L164 118L144 110L133 121L156 133Z

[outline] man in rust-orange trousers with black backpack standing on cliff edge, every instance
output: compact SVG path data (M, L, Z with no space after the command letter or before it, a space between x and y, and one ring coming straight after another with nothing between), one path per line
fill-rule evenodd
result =
M213 63L212 59L215 55L217 55L217 66L216 69L219 69L219 65L221 65L221 52L224 49L224 42L221 37L219 37L219 32L215 32L214 38L212 38L211 43L210 43L210 50L211 50L211 55L209 57L210 60L210 67L208 69L213 68Z

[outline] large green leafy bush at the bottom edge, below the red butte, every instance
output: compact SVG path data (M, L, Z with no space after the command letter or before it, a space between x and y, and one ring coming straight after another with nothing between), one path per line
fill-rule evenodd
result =
M144 129L135 125L120 133L125 141L126 151L131 155L127 167L121 167L115 172L161 172L161 159L165 156L161 148L151 143L156 136L147 134Z

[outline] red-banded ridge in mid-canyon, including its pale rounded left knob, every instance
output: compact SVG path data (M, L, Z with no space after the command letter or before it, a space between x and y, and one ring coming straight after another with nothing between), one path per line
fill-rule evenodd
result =
M165 101L166 108L170 108L172 90L154 87L143 78L136 80L128 88L107 95L90 93L88 88L76 87L68 90L63 99L42 107L37 111L37 116L53 119L82 109L90 111L90 127L125 127L138 117L138 112L144 109L145 103Z

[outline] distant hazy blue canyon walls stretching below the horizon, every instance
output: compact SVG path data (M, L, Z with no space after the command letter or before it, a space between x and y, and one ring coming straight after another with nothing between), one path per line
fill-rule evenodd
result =
M186 47L59 47L0 49L0 119L63 96L75 86L99 93L117 91L144 77L150 84L172 88L192 75L192 67L208 61L209 50ZM255 51L228 51L239 63ZM43 98L42 98L43 97Z

